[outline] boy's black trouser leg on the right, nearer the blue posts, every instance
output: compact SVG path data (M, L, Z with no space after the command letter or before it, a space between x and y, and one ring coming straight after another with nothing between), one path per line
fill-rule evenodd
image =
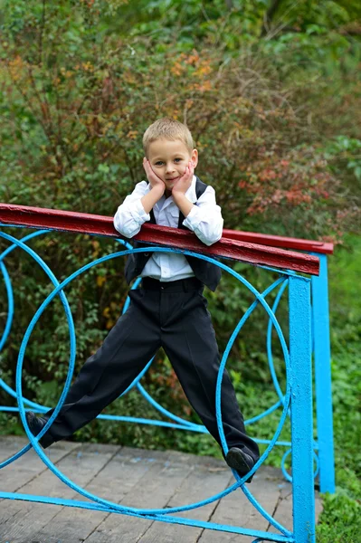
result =
M175 299L172 300L175 295L163 296L161 315L165 321L162 323L162 346L190 404L214 439L221 444L215 415L220 357L211 316L200 291L186 292L183 306L178 311L172 311L171 307L175 303L178 305ZM239 447L257 461L260 456L258 445L245 432L243 416L226 371L223 373L221 409L228 447Z

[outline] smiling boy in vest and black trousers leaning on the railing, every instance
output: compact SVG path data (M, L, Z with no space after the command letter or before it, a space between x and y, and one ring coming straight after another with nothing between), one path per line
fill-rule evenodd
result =
M214 188L194 175L198 152L189 129L174 119L158 119L143 136L147 181L137 184L114 217L119 233L131 238L146 221L188 228L205 244L222 237L223 218ZM144 243L135 243L135 246ZM129 292L126 313L103 345L81 367L62 409L40 440L44 448L69 437L95 418L126 390L158 348L163 347L190 404L220 442L215 417L219 352L204 284L214 291L221 269L176 252L139 252L126 264L128 283L142 277ZM37 435L53 410L43 417L27 412ZM227 464L244 476L259 459L258 445L247 436L233 386L226 371L222 383L223 430ZM251 478L252 479L252 478ZM251 482L251 479L248 482Z

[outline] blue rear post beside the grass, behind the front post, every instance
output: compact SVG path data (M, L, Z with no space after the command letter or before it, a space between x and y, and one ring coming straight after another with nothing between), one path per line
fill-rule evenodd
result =
M328 258L326 254L314 254L319 258L319 276L312 277L319 487L321 492L334 493L335 459L328 318Z

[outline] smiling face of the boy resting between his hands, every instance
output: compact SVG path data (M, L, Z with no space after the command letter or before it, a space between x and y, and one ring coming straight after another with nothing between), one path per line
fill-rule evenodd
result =
M153 171L166 185L167 191L171 191L179 177L185 174L188 162L193 166L198 164L198 151L193 149L189 154L183 141L169 141L157 139L149 144L148 160Z

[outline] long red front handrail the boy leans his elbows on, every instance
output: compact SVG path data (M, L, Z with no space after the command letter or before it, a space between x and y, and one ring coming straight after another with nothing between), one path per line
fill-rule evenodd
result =
M121 238L113 226L113 218L104 215L76 213L43 207L0 204L0 224L49 228L66 232L90 233ZM233 231L231 231L233 232ZM123 238L126 239L126 238ZM231 258L251 264L274 266L276 268L301 271L318 275L318 257L299 252L285 251L257 243L248 243L222 237L210 247L200 242L192 232L168 228L158 224L143 224L133 239L200 252L213 257Z

